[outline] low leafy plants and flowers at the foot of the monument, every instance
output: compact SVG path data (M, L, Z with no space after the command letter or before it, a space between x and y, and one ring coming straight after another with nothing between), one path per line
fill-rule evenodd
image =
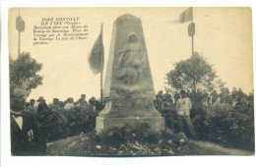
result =
M101 134L98 141L96 144L106 147L102 152L110 150L107 154L117 156L174 155L177 149L187 149L187 138L183 133L177 135L167 129L154 134L148 122L142 122L138 127L115 127Z

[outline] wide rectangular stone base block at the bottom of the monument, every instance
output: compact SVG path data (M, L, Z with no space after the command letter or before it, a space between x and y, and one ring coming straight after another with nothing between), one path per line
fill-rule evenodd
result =
M162 117L128 117L128 118L103 118L96 117L96 134L100 134L114 127L124 127L126 125L139 126L142 122L148 122L151 125L152 133L159 133L164 129L164 119Z

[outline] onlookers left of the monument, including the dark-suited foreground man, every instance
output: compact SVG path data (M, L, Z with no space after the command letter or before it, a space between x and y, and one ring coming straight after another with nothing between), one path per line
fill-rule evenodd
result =
M35 102L37 105L35 107ZM82 94L76 102L69 97L64 102L53 98L51 104L40 96L36 101L31 99L26 103L25 91L22 86L11 85L10 87L10 116L11 116L11 152L13 155L46 155L46 136L40 120L46 121L47 116L58 115L60 112L73 113L76 107L85 108L85 111L97 114L102 106L95 97L90 98L89 104L86 95ZM84 111L84 110L78 111ZM55 114L54 114L55 113ZM46 118L46 119L45 119ZM60 118L60 117L59 117Z

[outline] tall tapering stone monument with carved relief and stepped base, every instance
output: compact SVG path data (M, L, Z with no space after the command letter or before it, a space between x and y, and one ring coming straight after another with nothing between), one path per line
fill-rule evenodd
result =
M125 14L116 19L106 69L105 107L96 117L96 133L149 122L151 131L164 128L154 106L155 90L141 19Z

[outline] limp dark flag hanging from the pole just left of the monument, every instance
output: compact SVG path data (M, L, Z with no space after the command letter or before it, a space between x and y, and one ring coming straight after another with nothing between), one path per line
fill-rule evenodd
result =
M102 41L102 24L100 33L96 39L93 49L91 50L88 61L94 74L98 74L103 71L104 46Z

